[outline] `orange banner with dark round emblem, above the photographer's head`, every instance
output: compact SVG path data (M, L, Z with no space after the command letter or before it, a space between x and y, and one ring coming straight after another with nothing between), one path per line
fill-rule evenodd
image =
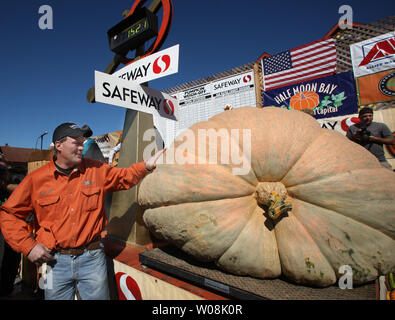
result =
M356 79L359 104L395 99L395 69Z

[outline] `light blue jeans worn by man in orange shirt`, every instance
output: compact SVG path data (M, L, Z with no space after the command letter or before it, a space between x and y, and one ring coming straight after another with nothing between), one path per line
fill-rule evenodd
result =
M75 287L82 300L109 300L106 256L102 248L79 256L55 253L47 263L45 300L73 300Z

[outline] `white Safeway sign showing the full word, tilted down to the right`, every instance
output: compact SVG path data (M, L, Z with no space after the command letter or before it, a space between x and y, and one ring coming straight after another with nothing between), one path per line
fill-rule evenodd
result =
M161 91L95 71L95 100L178 120L178 101Z

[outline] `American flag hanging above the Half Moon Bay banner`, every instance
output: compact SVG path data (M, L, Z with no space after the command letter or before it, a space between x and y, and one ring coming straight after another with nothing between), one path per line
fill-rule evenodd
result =
M318 40L262 59L264 90L336 73L335 40Z

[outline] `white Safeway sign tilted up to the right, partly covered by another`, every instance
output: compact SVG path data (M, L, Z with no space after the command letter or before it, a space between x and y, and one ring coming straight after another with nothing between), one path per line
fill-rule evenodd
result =
M135 83L143 83L178 72L179 45L151 54L113 73Z

